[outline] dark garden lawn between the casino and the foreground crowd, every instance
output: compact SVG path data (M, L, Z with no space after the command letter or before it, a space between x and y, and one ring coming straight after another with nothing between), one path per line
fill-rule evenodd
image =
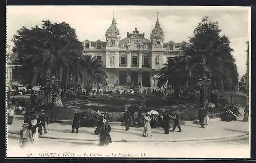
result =
M218 95L225 95L228 100L230 100L230 93L223 92L217 93ZM116 117L116 119L121 119L124 111L124 105L127 103L133 103L136 101L142 101L146 107L147 111L156 110L158 112L161 111L161 108L166 108L167 110L179 110L181 113L182 119L194 120L196 118L195 115L198 114L199 105L198 101L189 100L189 99L173 99L171 97L161 98L160 96L153 95L145 95L145 94L119 94L119 95L96 95L90 97L88 99L79 99L73 98L67 102L63 102L63 108L55 108L54 110L54 118L62 119L62 120L72 120L74 116L73 109L77 108L79 111L86 110L88 108L97 111L108 111L110 113L110 117ZM246 97L233 94L233 101L237 102L241 106L245 106ZM51 115L51 107L50 106L42 106L42 108L38 108L39 110L44 109L46 113ZM211 113L220 112L219 108L212 108L210 110Z

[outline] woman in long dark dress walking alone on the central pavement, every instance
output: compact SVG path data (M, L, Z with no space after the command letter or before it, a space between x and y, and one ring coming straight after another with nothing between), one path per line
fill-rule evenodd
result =
M103 118L103 124L100 127L99 131L99 145L100 146L106 146L109 143L112 143L111 137L110 137L110 131L111 127L108 124L108 120L106 118Z

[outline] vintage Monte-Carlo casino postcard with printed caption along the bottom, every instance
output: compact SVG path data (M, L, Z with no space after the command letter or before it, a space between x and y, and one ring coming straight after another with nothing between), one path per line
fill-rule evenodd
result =
M250 7L7 6L6 21L6 157L250 158Z

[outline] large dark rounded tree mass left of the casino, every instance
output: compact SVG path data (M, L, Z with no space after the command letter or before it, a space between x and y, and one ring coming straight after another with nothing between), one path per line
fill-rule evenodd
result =
M21 82L32 86L34 84L45 86L48 97L50 87L47 85L51 77L55 76L61 84L68 82L67 77L63 79L63 74L70 70L75 71L72 69L74 67L70 68L69 65L71 63L75 65L83 49L75 29L65 22L52 24L49 20L42 21L42 28L23 27L18 30L17 35L14 35L12 41L15 45L13 52L18 53L22 65L19 69ZM59 93L59 91L54 92ZM53 97L59 98L59 95ZM55 103L62 105L62 102Z

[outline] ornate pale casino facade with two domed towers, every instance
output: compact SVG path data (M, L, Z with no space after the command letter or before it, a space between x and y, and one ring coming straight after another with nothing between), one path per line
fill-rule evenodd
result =
M133 84L140 87L155 87L157 74L167 63L168 57L182 55L182 46L186 42L164 42L164 31L158 17L155 28L151 31L150 39L144 37L137 28L127 37L120 39L117 23L113 18L112 24L106 30L104 41L83 41L84 55L97 56L102 61L108 75L109 86Z

